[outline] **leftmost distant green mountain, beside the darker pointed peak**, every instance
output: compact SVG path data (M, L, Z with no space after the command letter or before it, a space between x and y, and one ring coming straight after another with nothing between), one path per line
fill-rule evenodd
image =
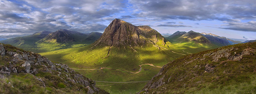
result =
M31 50L36 48L36 42L43 39L46 37L49 33L52 33L50 31L39 31L35 32L29 36L23 36L23 37L16 37L16 38L11 38L11 39L6 39L0 41L1 43L4 44L11 44L15 47L19 47L25 50Z

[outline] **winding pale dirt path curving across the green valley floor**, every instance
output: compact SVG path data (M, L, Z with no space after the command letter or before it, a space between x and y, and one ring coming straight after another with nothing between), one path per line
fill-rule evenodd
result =
M121 70L121 71L130 72L130 73L139 73L141 71L141 69L142 69L142 67L141 67L142 65L150 65L150 66L154 66L154 67L157 67L157 68L162 68L161 66L155 66L153 64L141 64L141 65L139 65L140 69L137 72L130 72L130 71L123 70L123 69L112 69L112 68L106 68L106 67L102 67L102 68L99 68L99 69L75 69L75 68L70 68L70 69L73 69L73 70L101 70L101 69L109 69L109 70Z

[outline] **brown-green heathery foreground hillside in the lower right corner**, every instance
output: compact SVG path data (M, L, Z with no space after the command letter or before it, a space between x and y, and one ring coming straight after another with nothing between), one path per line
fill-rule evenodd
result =
M139 94L255 93L256 42L186 55L164 65Z

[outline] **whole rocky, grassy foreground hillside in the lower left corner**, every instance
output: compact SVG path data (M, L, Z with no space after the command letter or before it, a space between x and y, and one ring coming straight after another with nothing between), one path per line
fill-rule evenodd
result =
M39 54L0 44L1 94L109 94L95 81Z

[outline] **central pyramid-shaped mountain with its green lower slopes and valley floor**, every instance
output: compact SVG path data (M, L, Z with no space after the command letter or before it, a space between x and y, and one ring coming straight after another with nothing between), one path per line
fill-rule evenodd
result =
M134 26L115 19L92 45L40 54L51 61L65 63L96 81L130 82L150 80L160 70L156 66L161 67L175 58L213 48L193 41L172 44L149 26ZM139 65L142 65L141 71ZM103 85L100 88L112 94L134 94L146 83L99 84Z

